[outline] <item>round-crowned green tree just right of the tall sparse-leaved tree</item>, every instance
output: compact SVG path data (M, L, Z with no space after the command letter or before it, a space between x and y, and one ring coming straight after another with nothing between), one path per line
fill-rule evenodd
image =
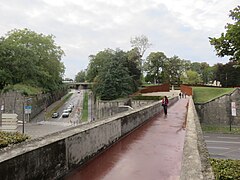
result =
M154 79L154 83L162 82L160 75L166 61L167 56L163 52L152 52L147 57L144 64L145 71L147 72L147 77L152 77Z

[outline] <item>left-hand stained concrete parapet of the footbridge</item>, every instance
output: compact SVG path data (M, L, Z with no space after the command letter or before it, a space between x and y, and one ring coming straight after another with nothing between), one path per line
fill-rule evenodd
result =
M170 105L177 98L170 100ZM160 101L0 151L3 180L55 179L86 162L162 111Z

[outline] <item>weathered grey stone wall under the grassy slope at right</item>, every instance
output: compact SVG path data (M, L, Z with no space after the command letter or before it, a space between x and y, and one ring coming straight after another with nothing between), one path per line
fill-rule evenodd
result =
M231 116L231 102L236 102L237 116ZM195 103L200 122L205 124L240 125L240 89L231 94L223 95L207 103Z

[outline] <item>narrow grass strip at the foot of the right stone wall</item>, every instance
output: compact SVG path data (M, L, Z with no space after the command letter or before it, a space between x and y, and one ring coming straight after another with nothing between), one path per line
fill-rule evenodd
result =
M231 131L229 126L201 124L201 127L205 133L240 134L240 127L236 126L232 126Z

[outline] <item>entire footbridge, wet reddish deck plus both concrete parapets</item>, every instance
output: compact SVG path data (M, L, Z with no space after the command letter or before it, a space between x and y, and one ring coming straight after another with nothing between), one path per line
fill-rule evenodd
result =
M1 179L214 179L192 98L170 104L167 117L155 102L3 149Z

